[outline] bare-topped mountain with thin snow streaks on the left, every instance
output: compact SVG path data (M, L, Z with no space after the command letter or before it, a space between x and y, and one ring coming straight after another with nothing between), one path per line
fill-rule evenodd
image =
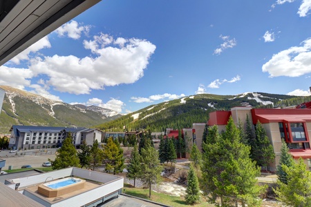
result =
M92 127L122 116L98 106L70 105L10 86L0 88L6 90L0 114L0 133L8 133L15 124Z

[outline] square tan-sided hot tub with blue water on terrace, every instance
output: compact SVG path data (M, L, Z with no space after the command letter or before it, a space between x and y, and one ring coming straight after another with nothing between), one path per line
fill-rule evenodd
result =
M38 186L38 193L46 197L59 197L75 190L84 188L85 180L74 177L50 181Z

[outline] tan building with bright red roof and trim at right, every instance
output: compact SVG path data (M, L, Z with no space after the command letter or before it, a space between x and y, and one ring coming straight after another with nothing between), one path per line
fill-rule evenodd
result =
M265 128L267 137L274 148L276 158L270 164L270 170L275 171L281 155L281 141L285 140L290 148L290 154L294 159L302 157L308 168L311 168L311 109L310 108L251 108L235 107L229 111L215 111L209 114L209 126L218 126L219 132L225 130L229 117L232 116L234 123L238 121L246 126L246 117L256 126L260 121Z

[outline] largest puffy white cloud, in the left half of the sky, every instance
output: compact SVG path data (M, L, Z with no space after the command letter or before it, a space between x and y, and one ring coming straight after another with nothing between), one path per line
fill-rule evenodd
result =
M84 46L96 57L54 55L31 59L29 68L35 75L46 75L46 84L55 90L75 95L138 81L156 46L142 39L126 39L123 48L107 46L109 43L113 44L113 37L101 34L92 41L84 41Z

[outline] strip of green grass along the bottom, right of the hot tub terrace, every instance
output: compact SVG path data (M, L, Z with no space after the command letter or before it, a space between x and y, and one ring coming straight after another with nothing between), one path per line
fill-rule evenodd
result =
M167 206L189 206L184 197L176 197L167 195L164 193L156 193L154 191L151 192L151 199L149 199L149 189L143 189L143 188L134 188L133 186L129 184L124 184L125 192L123 190L123 193L127 195L133 195L135 197L140 197L142 199L147 199L151 201L156 201L161 204L165 204ZM206 201L201 200L200 204L193 205L195 207L212 207L213 205L207 204Z

